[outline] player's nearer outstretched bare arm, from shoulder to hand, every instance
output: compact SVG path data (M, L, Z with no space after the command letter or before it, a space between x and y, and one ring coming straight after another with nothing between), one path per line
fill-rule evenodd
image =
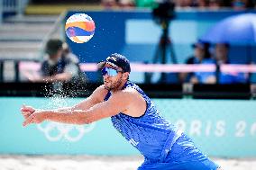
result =
M70 112L35 111L23 122L23 126L31 123L41 123L41 121L45 120L70 124L87 124L125 111L131 100L133 100L133 94L118 92L113 94L108 101L96 103L87 110L73 110Z

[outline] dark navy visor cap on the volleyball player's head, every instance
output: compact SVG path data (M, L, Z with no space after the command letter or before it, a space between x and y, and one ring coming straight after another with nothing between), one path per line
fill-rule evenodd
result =
M105 61L99 62L97 64L98 69L104 68L105 64L109 64L110 66L116 68L121 67L123 72L131 72L129 60L121 54L114 53L108 58L106 58Z

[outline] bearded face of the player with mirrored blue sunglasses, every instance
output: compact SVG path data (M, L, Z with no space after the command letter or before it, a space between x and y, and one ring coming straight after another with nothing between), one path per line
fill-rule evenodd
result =
M123 85L123 81L127 80L124 74L125 73L123 73L122 68L116 68L108 64L105 64L105 67L102 69L105 89L119 89Z

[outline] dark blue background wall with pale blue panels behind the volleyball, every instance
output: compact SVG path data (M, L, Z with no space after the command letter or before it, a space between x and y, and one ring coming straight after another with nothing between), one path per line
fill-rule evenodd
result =
M66 37L71 49L78 55L81 62L98 62L114 52L122 53L132 62L140 63L151 63L155 57L161 29L160 25L152 20L151 11L70 11L66 19L73 13L87 13L96 22L95 35L87 43L74 43ZM177 11L176 17L170 22L169 37L178 63L184 63L193 53L191 44L212 25L238 13L242 12ZM256 61L255 47L248 50L247 47L231 46L232 63L247 63L250 55ZM168 53L167 62L171 63L170 53ZM87 74L92 81L98 77L96 73ZM142 83L143 74L133 73L131 79Z

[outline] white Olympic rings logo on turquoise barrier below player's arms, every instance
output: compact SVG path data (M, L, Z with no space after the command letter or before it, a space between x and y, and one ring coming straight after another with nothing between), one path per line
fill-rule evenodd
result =
M64 138L71 142L76 142L82 139L86 133L94 130L95 127L95 122L89 125L69 125L58 122L37 125L38 130L41 130L45 137L50 141L58 141Z

